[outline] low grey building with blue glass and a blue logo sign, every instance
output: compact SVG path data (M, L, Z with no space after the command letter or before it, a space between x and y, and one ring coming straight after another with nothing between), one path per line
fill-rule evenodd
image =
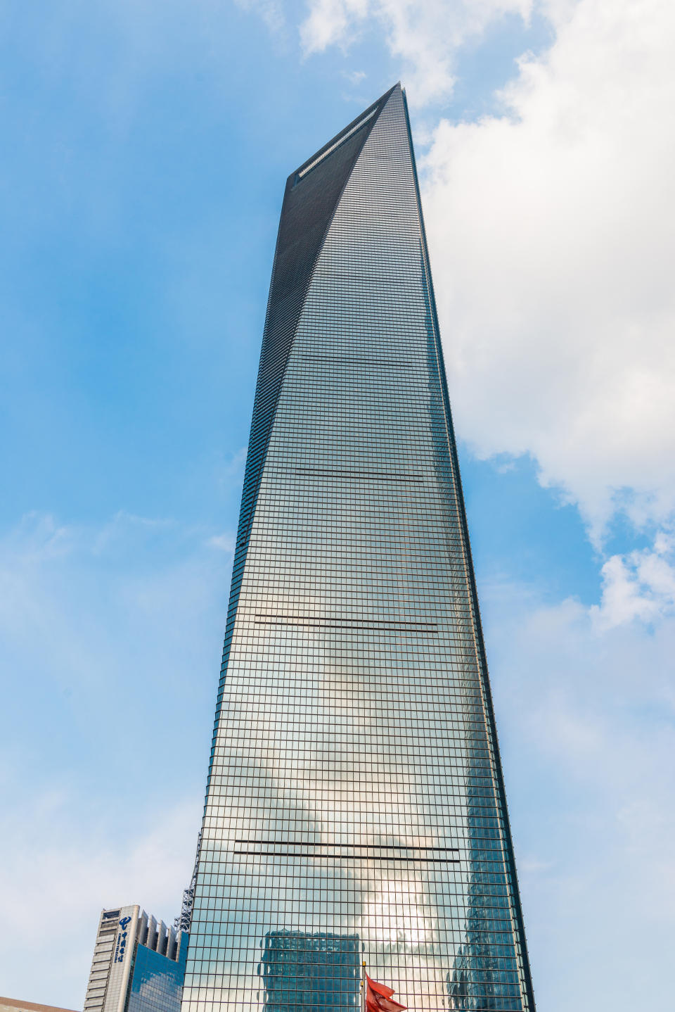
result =
M180 1012L187 943L137 905L101 911L84 1012Z

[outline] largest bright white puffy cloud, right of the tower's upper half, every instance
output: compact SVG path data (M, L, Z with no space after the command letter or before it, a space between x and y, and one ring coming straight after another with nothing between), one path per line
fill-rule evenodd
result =
M548 9L503 115L438 126L423 202L458 432L599 538L675 508L675 7Z

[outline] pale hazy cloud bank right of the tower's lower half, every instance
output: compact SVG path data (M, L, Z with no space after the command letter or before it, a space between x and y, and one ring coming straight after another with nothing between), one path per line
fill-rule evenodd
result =
M511 584L483 613L538 1003L667 1008L675 617L600 629Z

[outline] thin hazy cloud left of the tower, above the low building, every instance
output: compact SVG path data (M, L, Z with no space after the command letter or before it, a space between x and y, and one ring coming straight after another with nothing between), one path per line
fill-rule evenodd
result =
M3 994L81 1008L101 907L179 912L229 575L208 536L122 512L0 538Z

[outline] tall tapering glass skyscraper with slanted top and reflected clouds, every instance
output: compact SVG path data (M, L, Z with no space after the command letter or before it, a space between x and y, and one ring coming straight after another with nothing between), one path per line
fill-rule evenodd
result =
M405 95L289 176L184 1012L534 1012Z

